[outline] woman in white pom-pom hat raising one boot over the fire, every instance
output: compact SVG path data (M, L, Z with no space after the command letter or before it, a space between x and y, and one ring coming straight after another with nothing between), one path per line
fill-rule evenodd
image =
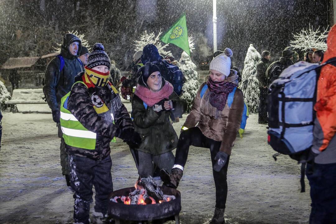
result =
M231 56L232 50L226 48L211 61L209 79L198 90L190 115L182 127L172 173L161 170L164 184L177 188L190 145L210 149L216 186L213 224L225 223L227 166L244 110L243 93L237 88L237 72L230 70Z

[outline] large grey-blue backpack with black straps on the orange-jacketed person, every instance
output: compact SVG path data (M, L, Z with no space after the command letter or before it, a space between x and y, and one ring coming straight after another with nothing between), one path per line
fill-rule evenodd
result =
M317 80L325 64L336 65L336 58L325 63L297 62L286 68L271 83L267 95L268 144L278 153L298 160L309 150L313 140L313 122ZM301 191L304 191L304 165L301 169Z

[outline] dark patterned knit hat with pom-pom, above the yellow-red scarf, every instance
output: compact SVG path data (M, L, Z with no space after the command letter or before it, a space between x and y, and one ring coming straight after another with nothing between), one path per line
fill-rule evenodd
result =
M101 43L95 43L93 45L92 51L89 54L87 67L92 69L98 65L106 65L109 69L111 66L110 58L105 52L105 48Z

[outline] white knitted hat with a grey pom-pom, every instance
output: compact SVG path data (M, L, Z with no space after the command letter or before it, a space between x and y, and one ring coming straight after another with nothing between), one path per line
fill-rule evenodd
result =
M231 68L231 59L233 53L230 48L225 48L224 53L217 55L212 61L210 62L210 70L216 70L224 74L226 77L230 74Z

